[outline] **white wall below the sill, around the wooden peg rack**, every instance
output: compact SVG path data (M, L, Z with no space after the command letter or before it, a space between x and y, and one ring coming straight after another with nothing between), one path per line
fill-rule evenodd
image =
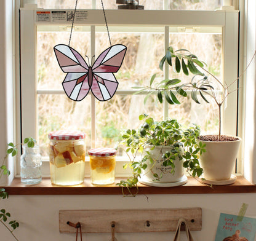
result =
M15 231L20 241L70 241L74 234L59 234L58 211L82 209L138 209L138 208L202 208L202 231L193 231L195 241L214 241L220 212L238 214L243 202L249 204L247 215L256 216L256 194L190 194L145 196L10 196L4 201L12 218L20 221ZM2 202L1 202L2 207ZM78 220L79 221L79 220ZM0 226L1 241L12 241ZM110 240L110 234L83 234L83 240ZM119 241L170 241L174 232L116 234ZM186 240L186 239L183 239ZM222 241L222 240L218 240Z

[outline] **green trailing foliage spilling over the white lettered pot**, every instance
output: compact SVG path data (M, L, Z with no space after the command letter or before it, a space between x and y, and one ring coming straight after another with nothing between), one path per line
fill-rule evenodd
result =
M136 196L138 193L138 178L141 177L142 170L145 170L148 165L147 160L154 164L156 160L151 157L150 152L145 151L150 147L154 149L156 146L172 146L170 152L162 154L164 166L172 167L172 172L175 172L174 160L183 161L183 167L191 176L201 176L202 168L199 165L199 155L205 152L204 145L198 141L200 130L198 126L193 126L184 129L175 119L167 119L165 121L154 121L147 114L139 116L143 124L137 130L126 130L122 135L122 141L119 147L124 146L129 157L129 163L124 165L124 168L129 167L132 170L132 176L127 180L120 181L117 185L122 188L127 188L129 194ZM143 152L143 155L141 155ZM162 175L153 173L154 180L161 180ZM137 192L133 194L130 188L135 187ZM124 192L123 192L124 193Z

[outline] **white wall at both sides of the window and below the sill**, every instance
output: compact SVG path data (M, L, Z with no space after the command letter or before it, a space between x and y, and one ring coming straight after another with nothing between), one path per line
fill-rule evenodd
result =
M249 1L249 8L254 7L255 0ZM6 99L6 83L10 82L12 76L12 50L10 49L10 0L0 1L0 152L3 156L8 141L8 133L11 128L7 128L5 117L8 113ZM255 20L250 19L252 28L250 34L255 37ZM4 31L6 30L6 33ZM7 41L9 39L9 41ZM255 38L253 38L252 49L255 49ZM254 80L254 75L252 76ZM255 92L255 90L253 90ZM247 106L247 111L254 113L252 107ZM250 116L252 124L255 123L255 115ZM9 120L9 123L12 123ZM9 131L8 131L9 130ZM252 129L250 129L252 130ZM251 132L251 131L250 131ZM255 133L255 130L254 130ZM252 136L254 140L255 134ZM254 144L250 145L250 153L254 153ZM255 155L249 155L252 158ZM136 208L182 208L201 207L202 208L202 231L193 232L195 240L214 241L217 229L218 216L220 212L238 214L243 202L248 203L247 216L256 216L256 194L190 194L190 195L149 195L149 202L145 196L122 197L122 196L10 196L9 200L1 200L0 208L10 211L12 219L20 223L20 227L15 231L20 241L68 241L74 240L74 235L59 234L58 232L58 211L59 210L79 210L79 209L136 209ZM79 221L79 220L78 220ZM0 240L14 240L8 231L0 225ZM153 233L153 234L117 234L120 241L130 240L172 240L173 232ZM110 240L110 234L84 234L87 241ZM185 239L184 239L185 240ZM221 241L221 240L220 240Z

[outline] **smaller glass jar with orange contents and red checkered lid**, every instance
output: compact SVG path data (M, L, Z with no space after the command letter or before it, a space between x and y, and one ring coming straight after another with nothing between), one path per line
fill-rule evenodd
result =
M94 148L88 151L90 157L90 180L92 184L106 185L114 183L116 167L116 149Z

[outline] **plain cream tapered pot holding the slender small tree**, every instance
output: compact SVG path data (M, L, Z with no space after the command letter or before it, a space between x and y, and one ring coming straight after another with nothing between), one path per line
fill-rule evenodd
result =
M212 184L218 184L218 181L220 184L225 184L225 180L230 180L241 144L241 138L238 139L237 141L201 141L206 144L206 152L202 153L199 162L206 180L217 181Z

